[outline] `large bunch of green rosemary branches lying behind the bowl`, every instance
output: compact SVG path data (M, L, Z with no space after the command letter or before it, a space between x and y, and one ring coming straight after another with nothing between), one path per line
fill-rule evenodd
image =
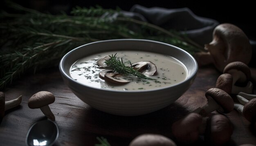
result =
M71 49L98 40L147 39L173 44L191 55L202 51L185 35L127 18L120 9L76 7L73 15L51 15L8 3L12 12L20 13L0 12L0 90L25 73L56 66Z

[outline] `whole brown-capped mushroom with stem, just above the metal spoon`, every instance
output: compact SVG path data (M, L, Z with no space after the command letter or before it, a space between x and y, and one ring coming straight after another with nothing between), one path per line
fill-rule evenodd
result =
M29 108L40 108L46 117L55 121L55 116L49 108L49 104L52 104L55 101L55 97L52 93L48 91L40 91L35 93L29 98L28 106Z

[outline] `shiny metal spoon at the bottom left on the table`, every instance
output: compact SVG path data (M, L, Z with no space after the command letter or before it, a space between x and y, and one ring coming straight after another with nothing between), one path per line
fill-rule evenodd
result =
M33 124L27 132L27 146L52 146L58 138L58 126L51 120Z

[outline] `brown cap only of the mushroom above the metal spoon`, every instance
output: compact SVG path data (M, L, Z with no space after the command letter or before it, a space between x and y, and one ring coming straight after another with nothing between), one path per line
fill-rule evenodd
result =
M35 93L29 98L27 102L29 108L41 108L43 106L47 106L48 104L52 104L55 101L55 97L52 93L48 91L40 91Z

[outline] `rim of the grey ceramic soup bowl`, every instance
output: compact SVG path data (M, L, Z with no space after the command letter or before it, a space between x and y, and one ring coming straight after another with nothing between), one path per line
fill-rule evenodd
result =
M84 46L88 46L88 45L91 45L91 44L95 44L95 43L101 43L101 42L115 42L115 41L144 41L144 42L153 42L153 43L157 43L157 44L164 44L164 45L167 45L167 46L171 46L175 49L178 49L179 51L182 51L183 53L185 53L186 55L188 55L192 60L193 62L195 63L195 70L194 72L191 74L190 77L187 77L184 81L180 82L180 83L177 83L173 86L164 86L164 87L160 87L160 88L153 88L153 89L146 89L146 90L129 90L129 91L126 91L126 90L112 90L112 89L109 89L109 88L96 88L96 87L93 87L93 86L88 86L88 85L85 85L85 84L82 84L76 80L74 80L72 77L70 77L69 75L67 75L67 73L65 72L65 70L63 69L64 67L64 60L70 55L72 54L74 51L76 51L77 49L80 49L81 47L84 47ZM152 92L152 91L159 91L159 90L164 90L164 89L167 89L167 88L171 88L171 87L174 87L174 86L179 86L181 84L184 84L185 82L190 82L190 80L192 80L196 74L198 73L198 63L196 62L195 58L189 54L187 51L177 47L177 46L173 46L171 44L167 44L167 43L164 43L164 42L159 42L159 41L154 41L154 40L145 40L145 39L112 39L112 40L101 40L101 41L96 41L96 42L90 42L90 43L87 43L87 44L84 44L84 45L81 45L81 46L78 46L76 47L75 49L72 49L71 51L69 51L68 53L66 53L63 58L61 58L61 61L59 63L59 70L60 70L60 73L62 74L62 76L64 76L65 78L67 78L70 82L74 82L76 84L79 84L80 86L85 86L87 88L92 88L92 89L96 89L96 90L100 90L100 91L108 91L108 92L120 92L120 93L141 93L141 92Z

